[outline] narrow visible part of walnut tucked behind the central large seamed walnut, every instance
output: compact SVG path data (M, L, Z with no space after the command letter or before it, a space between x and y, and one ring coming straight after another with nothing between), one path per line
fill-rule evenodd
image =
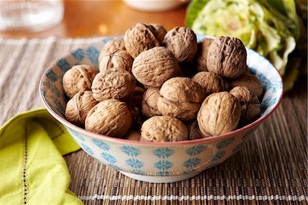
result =
M142 98L142 113L147 117L162 115L157 108L159 88L148 88Z

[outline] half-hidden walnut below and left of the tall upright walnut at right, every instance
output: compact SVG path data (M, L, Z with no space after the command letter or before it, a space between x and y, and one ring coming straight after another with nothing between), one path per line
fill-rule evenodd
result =
M205 95L209 95L211 93L218 93L224 91L225 89L224 80L215 73L206 71L196 73L196 75L192 77L192 80L203 87Z

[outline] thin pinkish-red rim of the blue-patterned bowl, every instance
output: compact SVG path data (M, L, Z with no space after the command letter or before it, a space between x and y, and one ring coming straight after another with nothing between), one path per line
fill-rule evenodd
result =
M205 38L214 38L213 36L206 36L206 35L200 35L198 34L198 36L204 36ZM105 38L118 38L120 36L106 36ZM105 39L103 38L103 39ZM103 40L102 39L102 40ZM97 42L97 43L101 43ZM90 45L93 44L97 44L97 43L92 43ZM81 47L81 49L89 47L90 45L86 45L85 47ZM77 48L79 49L79 48ZM264 60L266 60L272 67L274 67L274 65L269 62L269 60L267 60L264 56L261 56L261 54L257 53L256 51L254 51L253 49L249 49L246 47L246 49L253 51L253 53L256 53L258 56L260 56L261 58L263 58ZM75 51L75 49L73 50ZM71 51L66 52L66 54L60 56L60 58L67 58L68 56L70 56ZM187 140L187 141L177 141L177 142L142 142L142 141L131 141L125 138L115 138L112 136L106 136L103 134L97 134L94 132L90 132L84 128L80 128L77 125L74 125L73 123L70 123L69 121L66 121L66 119L62 118L59 114L57 114L50 106L49 104L47 104L46 100L44 99L44 95L43 95L43 80L46 77L46 73L47 71L49 71L50 69L52 69L55 65L56 65L57 60L53 60L51 62L51 64L49 64L49 67L47 67L47 69L44 71L44 73L42 74L42 77L40 78L40 84L39 84L39 93L40 93L40 98L43 101L44 107L47 109L47 111L49 112L49 114L51 114L55 119L57 119L57 121L60 121L60 123L62 123L63 125L65 125L66 127L72 129L72 130L77 130L78 132L81 132L82 134L91 136L93 138L98 138L98 139L104 139L106 141L110 141L113 143L125 143L125 144L131 144L131 145L146 145L146 146L170 146L170 145L192 145L192 144L198 144L198 143L205 143L205 142L211 142L211 141L216 141L216 140L220 140L222 138L229 138L231 136L234 135L238 135L241 134L242 132L245 132L246 130L249 130L257 125L259 125L262 121L264 121L265 119L267 119L270 114L272 114L272 112L274 112L274 110L277 109L277 107L279 106L279 104L281 103L282 97L283 97L283 93L284 93L284 84L283 84L283 78L281 76L281 74L279 73L278 69L276 67L274 67L274 69L276 70L276 72L278 73L279 79L281 80L281 93L280 93L280 97L277 101L277 103L274 105L274 107L272 108L272 110L270 110L267 114L265 114L264 116L260 117L259 119L253 121L252 123L249 123L248 125L245 125L244 127L240 128L240 129L236 129L233 130L231 132L227 132L225 134L220 134L220 135L216 135L216 136L209 136L206 138L199 138L199 139L194 139L194 140Z

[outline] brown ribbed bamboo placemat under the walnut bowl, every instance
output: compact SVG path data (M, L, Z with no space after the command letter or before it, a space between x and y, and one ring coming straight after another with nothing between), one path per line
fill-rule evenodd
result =
M42 107L40 77L64 53L101 40L0 38L0 125ZM307 204L307 79L283 97L240 152L169 184L132 180L80 150L64 157L85 204Z

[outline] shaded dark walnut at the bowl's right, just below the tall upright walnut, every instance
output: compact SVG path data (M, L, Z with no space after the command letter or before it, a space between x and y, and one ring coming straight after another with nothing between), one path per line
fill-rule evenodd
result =
M248 88L257 97L261 97L263 93L263 85L255 75L249 72L244 72L240 77L230 82L231 88L242 86Z

